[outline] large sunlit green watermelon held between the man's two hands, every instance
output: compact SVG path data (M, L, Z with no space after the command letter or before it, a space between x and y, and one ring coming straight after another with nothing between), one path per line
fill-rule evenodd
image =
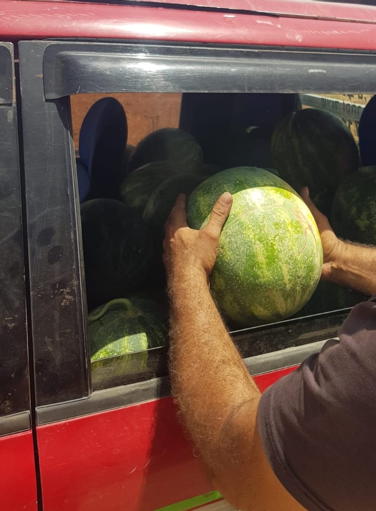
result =
M242 326L291 316L307 303L321 274L322 246L311 212L278 176L239 167L208 178L192 192L190 227L206 224L225 191L234 202L210 276L219 310Z

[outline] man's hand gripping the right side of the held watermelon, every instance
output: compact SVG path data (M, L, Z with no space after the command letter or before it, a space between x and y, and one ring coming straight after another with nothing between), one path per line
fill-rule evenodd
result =
M339 266L341 262L344 243L334 234L328 218L325 217L325 215L323 215L312 202L309 196L308 187L305 187L300 191L300 196L310 208L320 233L323 251L321 278L323 281L331 281L333 277L333 268Z

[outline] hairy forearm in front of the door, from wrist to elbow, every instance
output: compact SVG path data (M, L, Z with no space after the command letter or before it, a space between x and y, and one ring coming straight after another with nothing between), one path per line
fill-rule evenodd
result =
M170 278L172 391L193 442L212 471L228 462L226 425L257 389L200 273ZM227 435L229 433L226 433ZM215 474L213 474L215 475Z

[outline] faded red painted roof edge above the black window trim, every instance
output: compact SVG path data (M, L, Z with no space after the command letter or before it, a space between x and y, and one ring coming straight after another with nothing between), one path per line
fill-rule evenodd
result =
M0 0L0 13L0 38L12 41L92 37L376 49L371 23L20 0Z

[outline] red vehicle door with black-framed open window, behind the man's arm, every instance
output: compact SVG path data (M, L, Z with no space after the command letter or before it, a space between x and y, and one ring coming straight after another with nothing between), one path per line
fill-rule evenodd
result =
M166 348L149 350L147 359L140 352L90 363L71 97L183 94L181 119L191 129L183 107L192 93L209 100L236 91L249 107L260 106L260 92L280 105L281 90L372 92L376 57L330 48L129 42L125 34L105 42L19 43L43 509L187 510L208 503L230 509L178 424ZM307 68L318 71L307 74ZM269 117L270 128L275 118ZM307 314L232 336L264 389L335 337L347 312Z

